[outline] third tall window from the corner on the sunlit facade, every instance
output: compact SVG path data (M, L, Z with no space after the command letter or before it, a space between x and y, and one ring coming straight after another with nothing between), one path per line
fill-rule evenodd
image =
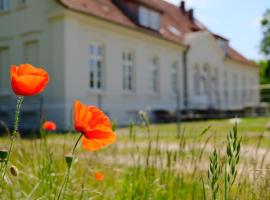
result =
M150 92L158 92L158 58L153 58L150 63Z

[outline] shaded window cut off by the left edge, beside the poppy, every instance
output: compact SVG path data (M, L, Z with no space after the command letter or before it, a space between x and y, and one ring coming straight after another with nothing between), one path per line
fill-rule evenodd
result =
M5 93L9 88L9 48L0 48L0 95Z

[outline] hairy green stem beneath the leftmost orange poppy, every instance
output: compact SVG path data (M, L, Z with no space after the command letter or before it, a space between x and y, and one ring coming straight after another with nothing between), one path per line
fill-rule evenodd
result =
M15 138L17 136L18 127L19 127L19 116L20 116L20 110L21 110L23 98L24 98L23 96L18 96L18 98L17 98L14 129L13 129L13 132L11 134L11 138L10 138L11 141L10 141L10 146L9 146L9 150L8 150L7 160L6 160L5 164L4 164L4 172L3 172L3 175L1 177L1 182L0 182L1 184L0 185L2 185L2 182L3 182L4 177L6 175L7 165L8 165L8 162L10 160L10 154L12 152L14 140L15 140Z

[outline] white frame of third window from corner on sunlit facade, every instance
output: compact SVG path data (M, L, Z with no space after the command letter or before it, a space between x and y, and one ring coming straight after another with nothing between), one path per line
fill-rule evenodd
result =
M151 59L149 70L149 90L150 94L156 95L159 91L159 57L155 56Z

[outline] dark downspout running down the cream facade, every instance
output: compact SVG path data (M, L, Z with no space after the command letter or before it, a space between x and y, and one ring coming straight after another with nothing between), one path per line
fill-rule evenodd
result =
M187 69L187 54L190 46L188 46L183 52L183 80L184 80L184 108L189 109L189 99L188 99L188 69Z

